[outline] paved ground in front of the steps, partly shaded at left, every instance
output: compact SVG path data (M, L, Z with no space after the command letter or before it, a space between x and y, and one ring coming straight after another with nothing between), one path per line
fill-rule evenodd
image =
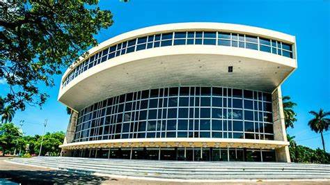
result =
M140 179L119 179L84 175L76 172L65 172L49 168L38 168L8 163L4 160L10 157L0 157L0 182L10 181L18 184L220 184L220 183L183 183L159 182ZM330 184L330 182L249 182L221 184Z

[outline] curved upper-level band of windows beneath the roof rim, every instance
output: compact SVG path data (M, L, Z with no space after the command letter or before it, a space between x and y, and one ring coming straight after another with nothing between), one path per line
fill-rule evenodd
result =
M110 47L93 54L74 67L74 70L72 70L62 81L62 88L82 72L116 56L143 49L173 45L221 45L228 47L242 47L265 51L288 58L293 57L292 45L255 35L225 33L221 31L178 31L160 33L126 40L125 42L111 45Z

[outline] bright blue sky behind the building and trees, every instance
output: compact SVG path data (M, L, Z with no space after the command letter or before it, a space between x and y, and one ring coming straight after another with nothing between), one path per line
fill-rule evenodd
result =
M111 10L114 24L102 29L95 38L103 42L134 29L175 22L224 22L258 26L295 35L297 40L297 70L282 85L283 95L289 95L298 105L294 108L297 122L288 134L299 145L322 148L320 134L308 127L312 115L308 111L324 108L330 111L329 27L330 1L100 1L102 10ZM64 71L65 69L63 69ZM17 111L14 122L24 120L25 134L46 131L66 131L69 115L57 101L61 76L54 76L56 86L45 88L50 95L42 109L28 106ZM0 79L0 89L6 88ZM1 92L0 92L1 93ZM326 149L330 151L330 131L324 133Z

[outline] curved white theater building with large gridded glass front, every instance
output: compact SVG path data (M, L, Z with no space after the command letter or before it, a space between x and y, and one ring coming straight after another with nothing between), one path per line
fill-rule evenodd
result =
M292 35L178 23L106 40L63 74L66 156L290 162L281 84Z

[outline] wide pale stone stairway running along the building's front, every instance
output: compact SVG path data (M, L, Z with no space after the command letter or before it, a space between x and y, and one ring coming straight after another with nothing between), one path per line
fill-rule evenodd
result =
M152 161L40 156L10 161L84 173L162 179L329 179L330 165L268 162Z

